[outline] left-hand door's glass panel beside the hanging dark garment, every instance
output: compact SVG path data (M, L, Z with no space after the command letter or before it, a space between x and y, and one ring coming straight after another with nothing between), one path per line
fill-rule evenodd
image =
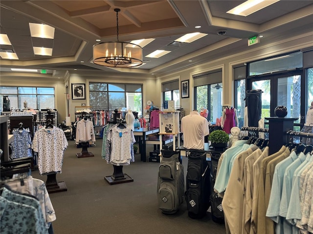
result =
M270 80L253 81L252 89L261 89L263 91L261 118L270 117Z

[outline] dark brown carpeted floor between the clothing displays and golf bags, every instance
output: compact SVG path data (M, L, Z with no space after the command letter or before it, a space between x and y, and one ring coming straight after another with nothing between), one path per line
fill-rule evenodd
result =
M113 166L101 157L102 139L88 148L94 157L78 158L74 141L69 141L62 174L66 192L52 193L50 198L57 216L52 222L55 234L224 234L225 227L214 223L210 213L202 219L188 217L186 203L175 215L164 215L156 199L157 162L136 161L124 166L123 172L134 182L109 185ZM149 151L147 147L147 158ZM187 158L183 158L186 175ZM38 170L35 178L46 181Z

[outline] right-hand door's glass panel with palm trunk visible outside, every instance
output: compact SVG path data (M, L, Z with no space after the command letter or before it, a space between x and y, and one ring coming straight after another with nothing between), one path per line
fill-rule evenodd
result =
M286 106L286 117L298 118L295 123L300 123L300 97L301 76L278 78L277 105Z

